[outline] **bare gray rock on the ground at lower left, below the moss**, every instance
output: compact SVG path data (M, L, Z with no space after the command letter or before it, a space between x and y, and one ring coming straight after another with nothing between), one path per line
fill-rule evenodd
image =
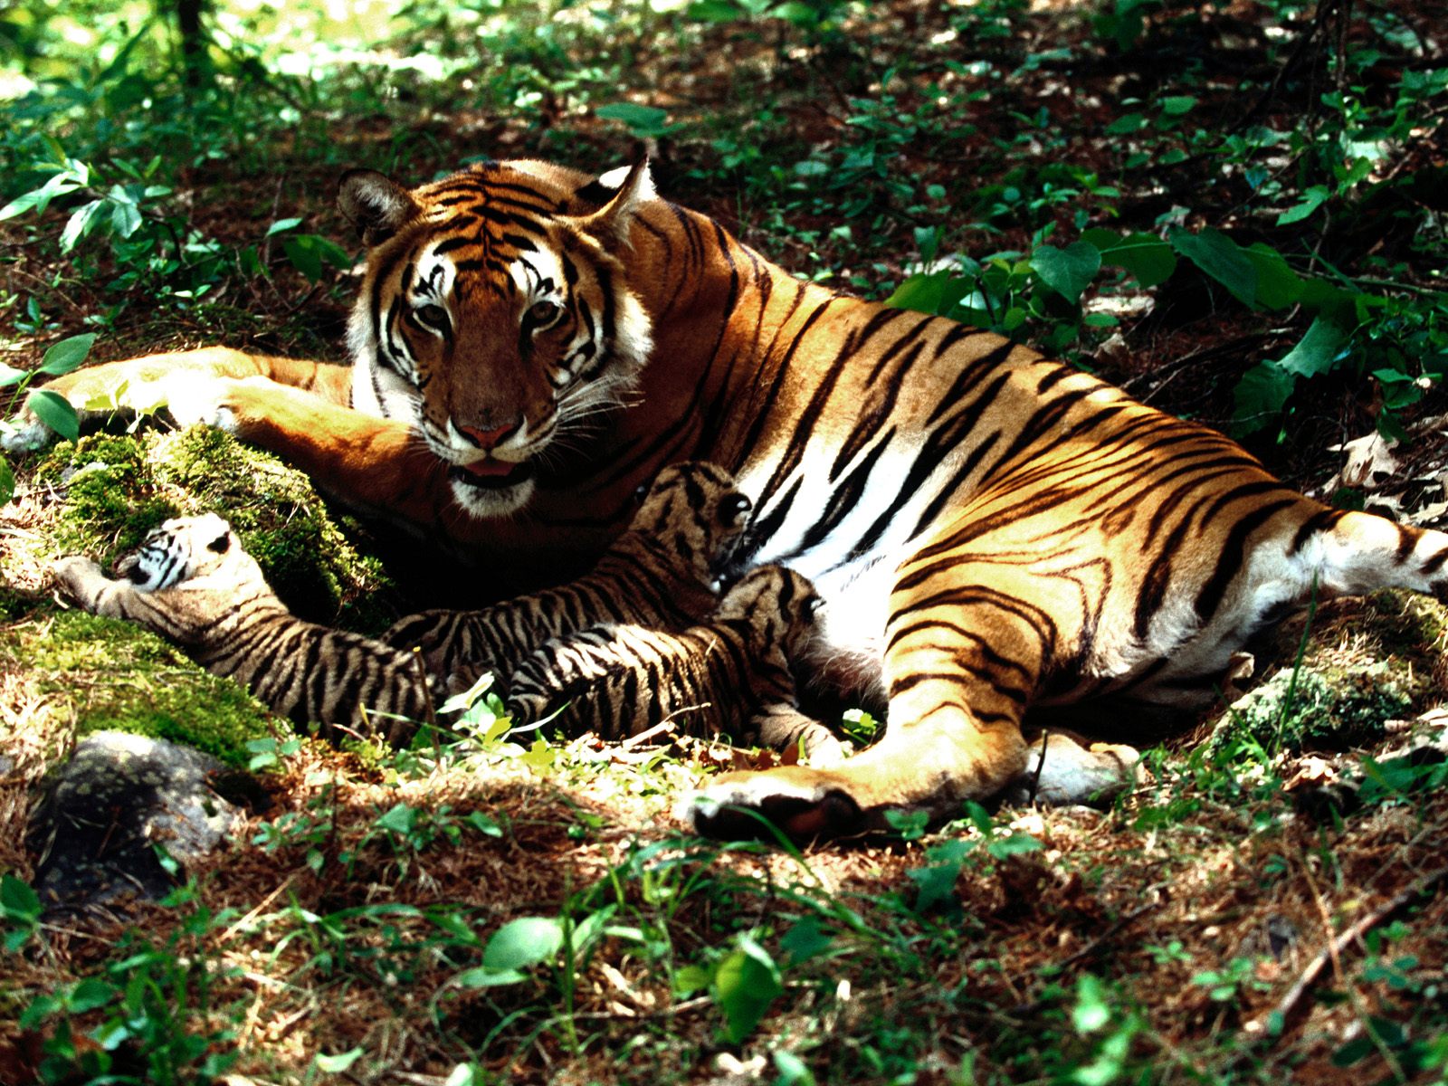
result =
M97 731L54 770L26 827L35 889L48 914L104 912L156 899L175 877L156 846L185 866L229 837L240 812L211 788L224 766L165 740Z

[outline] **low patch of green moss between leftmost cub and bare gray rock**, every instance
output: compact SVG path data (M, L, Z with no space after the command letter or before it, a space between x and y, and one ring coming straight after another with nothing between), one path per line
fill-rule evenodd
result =
M245 766L246 744L279 727L242 686L130 623L65 611L0 634L0 654L23 660L52 701L68 701L81 736L127 731Z

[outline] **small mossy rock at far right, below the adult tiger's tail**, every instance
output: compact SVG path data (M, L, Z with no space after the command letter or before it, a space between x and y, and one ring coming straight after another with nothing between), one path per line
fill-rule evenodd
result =
M1283 668L1238 698L1208 738L1221 753L1244 738L1268 752L1350 750L1381 740L1384 721L1405 717L1412 696L1387 662L1351 668Z

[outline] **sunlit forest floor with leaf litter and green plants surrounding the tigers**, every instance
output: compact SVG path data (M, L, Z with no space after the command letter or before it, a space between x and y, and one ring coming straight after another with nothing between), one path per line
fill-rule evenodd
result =
M1325 500L1442 523L1448 424L1426 353L1405 371L1420 394L1368 376L1381 361L1325 366L1253 429L1242 376L1281 359L1312 313L1242 304L1184 261L1158 285L1105 277L1063 307L1019 266L1093 226L1212 227L1303 275L1392 281L1394 298L1442 304L1448 190L1429 184L1445 168L1442 97L1409 103L1367 195L1277 222L1315 198L1313 133L1335 123L1321 103L1350 49L1357 97L1383 116L1406 109L1409 75L1432 72L1442 28L1413 6L1350 17L1325 4L1315 19L1145 4L1140 28L1129 4L695 7L712 19L618 4L534 23L508 9L514 22L478 26L417 14L372 58L436 56L436 83L371 61L326 85L288 81L233 51L217 85L253 100L217 93L204 110L159 75L97 70L85 104L55 113L94 175L72 198L104 200L101 177L126 181L120 161L169 193L146 197L126 236L58 242L75 210L64 200L0 220L6 358L32 369L56 340L97 332L91 361L217 342L339 359L356 282L330 206L343 167L421 181L478 155L607 169L647 151L669 198L844 290L889 295L927 253L988 268L1006 253L995 266L1016 278L982 292L1022 310L1022 339L1242 436ZM35 114L16 117L12 162ZM1368 120L1352 122L1357 136ZM1368 348L1419 320L1409 346L1441 350L1429 303L1392 304L1399 330L1371 326ZM1378 430L1406 437L1341 449ZM1448 689L1448 611L1431 601L1389 592L1289 623L1244 681L1255 699L1182 721L1108 809L976 808L804 853L720 846L683 833L676 798L769 753L668 736L544 741L487 708L414 750L339 750L54 594L56 555L113 559L193 508L248 518L307 617L376 631L466 591L420 576L414 552L268 458L162 417L12 466L3 1083L1448 1074L1445 769L1393 757L1423 714L1416 727L1436 734ZM23 844L36 786L80 736L117 725L252 763L259 789L227 792L243 808L235 840L167 902L41 919Z

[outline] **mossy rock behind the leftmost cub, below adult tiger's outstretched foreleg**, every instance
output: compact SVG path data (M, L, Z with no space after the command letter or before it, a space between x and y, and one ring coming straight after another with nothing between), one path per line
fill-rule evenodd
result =
M62 445L36 481L65 500L56 553L110 566L168 517L219 513L300 617L376 631L395 618L382 563L358 553L307 476L203 426Z

